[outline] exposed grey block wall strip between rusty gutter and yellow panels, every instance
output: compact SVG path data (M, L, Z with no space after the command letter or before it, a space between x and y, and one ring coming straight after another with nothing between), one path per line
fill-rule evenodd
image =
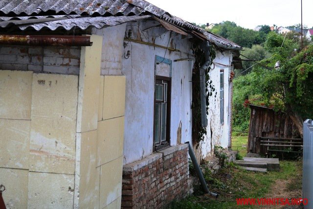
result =
M80 47L1 46L0 69L79 74Z

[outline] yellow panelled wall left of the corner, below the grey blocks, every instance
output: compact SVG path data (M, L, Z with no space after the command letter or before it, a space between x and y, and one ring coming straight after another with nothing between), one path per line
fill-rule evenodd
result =
M76 75L0 70L7 208L73 207L77 86Z

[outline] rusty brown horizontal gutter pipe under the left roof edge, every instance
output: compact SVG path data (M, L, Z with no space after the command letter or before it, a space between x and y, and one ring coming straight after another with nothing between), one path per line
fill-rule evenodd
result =
M0 45L92 46L92 42L90 42L90 36L0 35Z

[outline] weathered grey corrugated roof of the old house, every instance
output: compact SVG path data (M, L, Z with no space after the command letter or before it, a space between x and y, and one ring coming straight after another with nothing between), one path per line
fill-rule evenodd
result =
M70 30L74 26L82 30L90 26L100 29L150 18L150 15L176 25L187 33L198 34L198 37L203 37L219 47L237 50L242 48L172 16L145 0L0 0L0 16L3 16L0 17L0 27L16 25L21 30L30 27L35 30L45 27L50 30Z

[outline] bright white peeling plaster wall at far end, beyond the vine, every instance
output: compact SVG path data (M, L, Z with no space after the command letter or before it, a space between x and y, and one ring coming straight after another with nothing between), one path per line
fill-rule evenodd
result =
M210 97L209 115L207 125L207 135L203 142L201 142L201 157L207 158L214 153L214 146L222 146L227 148L229 124L229 73L232 62L232 53L220 52L216 53L214 65L211 66L213 70L210 71L210 78L215 86L215 92ZM222 65L221 65L222 64ZM224 69L224 124L221 124L220 117L220 70ZM214 97L216 93L216 97Z

